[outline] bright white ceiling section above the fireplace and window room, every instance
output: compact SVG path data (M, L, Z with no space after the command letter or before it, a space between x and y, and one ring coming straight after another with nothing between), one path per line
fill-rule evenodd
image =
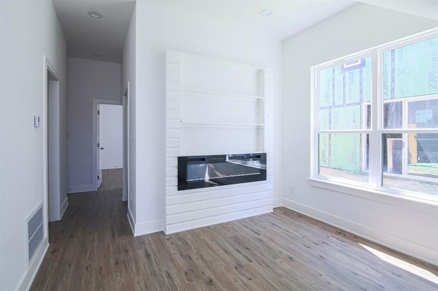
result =
M156 0L186 17L235 23L236 29L283 40L357 3L353 0ZM261 16L263 9L272 15ZM200 24L202 25L202 24Z

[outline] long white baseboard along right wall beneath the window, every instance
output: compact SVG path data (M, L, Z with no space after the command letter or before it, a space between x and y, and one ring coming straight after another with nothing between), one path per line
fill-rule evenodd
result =
M379 243L408 256L438 266L438 251L427 246L405 240L401 237L397 237L392 234L370 228L368 226L363 226L361 224L352 222L350 220L338 217L336 215L321 210L317 210L315 208L294 202L289 199L283 198L282 204L282 206L287 209L315 218L316 220L346 230L369 241Z

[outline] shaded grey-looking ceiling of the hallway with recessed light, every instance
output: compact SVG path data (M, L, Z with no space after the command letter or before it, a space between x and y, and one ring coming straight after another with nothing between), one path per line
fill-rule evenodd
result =
M135 1L53 0L53 4L67 38L68 56L122 63ZM90 17L88 11L98 11L103 17ZM92 54L100 54L102 58L93 58Z

